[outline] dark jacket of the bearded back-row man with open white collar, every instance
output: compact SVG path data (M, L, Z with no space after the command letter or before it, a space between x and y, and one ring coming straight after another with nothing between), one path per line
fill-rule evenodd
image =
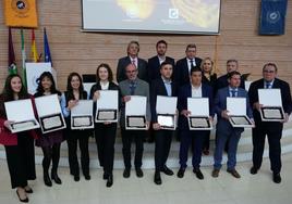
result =
M170 62L172 64L174 72L174 59L166 56L166 62ZM156 78L160 78L160 62L157 55L148 60L147 71L149 81L153 81Z

